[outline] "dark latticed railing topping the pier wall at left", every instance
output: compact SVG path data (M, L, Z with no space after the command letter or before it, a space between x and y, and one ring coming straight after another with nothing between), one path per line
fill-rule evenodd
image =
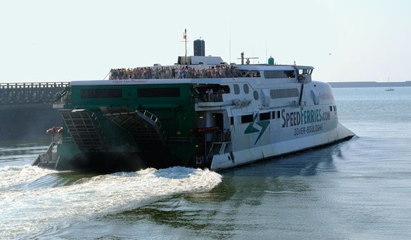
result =
M0 83L0 106L52 104L69 82Z

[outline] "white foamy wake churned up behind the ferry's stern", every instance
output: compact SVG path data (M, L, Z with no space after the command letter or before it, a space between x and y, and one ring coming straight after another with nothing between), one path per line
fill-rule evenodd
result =
M33 237L56 224L136 209L175 194L210 191L222 178L210 170L149 168L81 178L63 187L11 189L51 173L55 171L31 166L0 169L0 239Z

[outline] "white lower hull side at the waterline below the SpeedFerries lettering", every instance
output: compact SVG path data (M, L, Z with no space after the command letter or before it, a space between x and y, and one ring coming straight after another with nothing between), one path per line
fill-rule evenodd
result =
M332 144L343 139L351 138L355 134L338 122L338 126L332 131L319 133L297 139L290 139L284 142L277 142L265 146L247 148L223 155L214 155L211 163L211 170L224 170L234 168L239 165L253 163L255 161L285 155L291 152L298 152L308 148L314 148L326 144Z

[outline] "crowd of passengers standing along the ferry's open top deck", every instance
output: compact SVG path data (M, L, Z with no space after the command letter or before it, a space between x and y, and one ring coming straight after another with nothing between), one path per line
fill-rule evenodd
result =
M260 72L242 72L235 66L216 65L208 68L193 66L154 66L142 68L116 68L110 70L114 79L195 79L214 77L260 77Z

